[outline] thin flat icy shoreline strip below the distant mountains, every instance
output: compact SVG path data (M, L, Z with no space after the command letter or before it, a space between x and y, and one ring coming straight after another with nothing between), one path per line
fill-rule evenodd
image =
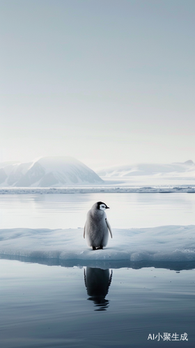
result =
M195 187L3 187L0 194L195 193Z

